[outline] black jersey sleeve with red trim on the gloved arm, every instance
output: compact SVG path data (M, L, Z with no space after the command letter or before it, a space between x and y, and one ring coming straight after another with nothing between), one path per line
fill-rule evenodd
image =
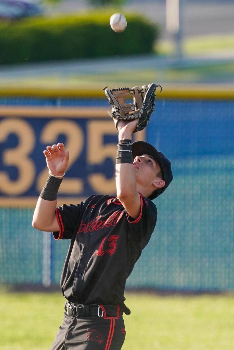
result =
M156 221L157 221L157 208L155 204L146 197L143 197L139 192L141 197L141 209L140 214L136 219L131 218L128 213L127 221L129 226L129 234L132 239L140 245L141 250L145 248L151 235L154 231Z

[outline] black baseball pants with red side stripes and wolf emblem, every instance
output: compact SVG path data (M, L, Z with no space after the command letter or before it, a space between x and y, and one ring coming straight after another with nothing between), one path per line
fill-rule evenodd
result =
M117 317L69 316L62 325L51 350L120 350L125 340L122 314Z

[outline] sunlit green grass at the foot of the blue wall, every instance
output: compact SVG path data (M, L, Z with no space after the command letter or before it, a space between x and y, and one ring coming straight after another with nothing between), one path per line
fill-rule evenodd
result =
M1 350L47 350L63 317L60 293L1 293ZM126 293L123 350L232 350L234 295Z

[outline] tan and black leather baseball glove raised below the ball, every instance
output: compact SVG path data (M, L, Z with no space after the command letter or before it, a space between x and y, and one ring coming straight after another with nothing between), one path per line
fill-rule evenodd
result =
M146 127L149 117L154 111L157 87L160 87L161 92L161 85L154 83L143 85L142 88L135 86L132 89L130 87L117 87L111 90L105 87L103 89L109 104L112 106L112 111L107 112L114 119L116 129L119 120L131 121L138 119L134 132L141 131ZM129 97L133 98L133 104L126 103L125 99Z

